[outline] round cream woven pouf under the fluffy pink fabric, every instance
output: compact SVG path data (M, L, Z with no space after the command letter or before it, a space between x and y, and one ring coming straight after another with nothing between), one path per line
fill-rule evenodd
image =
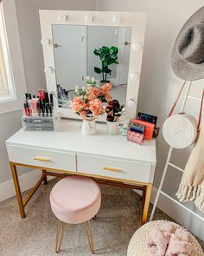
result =
M146 249L146 235L150 232L150 229L152 229L155 226L158 226L158 224L162 220L156 220L156 221L150 221L146 223L145 225L141 226L139 229L137 229L137 232L133 234L131 237L131 241L128 246L128 252L127 256L148 256L149 253ZM175 230L178 228L185 229L182 226L179 226L175 224L174 222L170 222L174 226L173 233L175 233ZM203 256L204 253L202 251L201 246L199 245L198 241L195 239L195 237L189 233L189 242L192 245L192 253L191 256Z

